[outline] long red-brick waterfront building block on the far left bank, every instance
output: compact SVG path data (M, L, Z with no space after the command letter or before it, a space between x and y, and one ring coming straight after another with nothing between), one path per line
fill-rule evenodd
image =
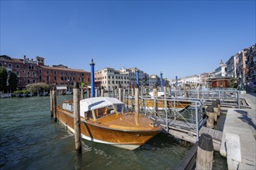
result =
M16 59L6 55L0 56L0 66L16 73L18 88L25 89L31 83L48 83L71 86L78 83L90 82L90 73L84 70L74 70L63 65L46 66L44 58L36 56L35 59Z

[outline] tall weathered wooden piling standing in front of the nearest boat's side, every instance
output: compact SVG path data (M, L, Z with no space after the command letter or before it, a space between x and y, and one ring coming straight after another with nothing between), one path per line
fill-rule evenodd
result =
M73 100L74 100L74 145L77 153L81 154L81 127L80 127L80 97L79 84L74 83Z

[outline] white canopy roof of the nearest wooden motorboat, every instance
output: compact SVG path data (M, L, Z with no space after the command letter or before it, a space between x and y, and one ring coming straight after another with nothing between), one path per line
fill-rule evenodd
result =
M85 117L85 112L95 110L102 107L112 106L112 104L123 104L116 98L111 97L92 97L80 100L80 115Z

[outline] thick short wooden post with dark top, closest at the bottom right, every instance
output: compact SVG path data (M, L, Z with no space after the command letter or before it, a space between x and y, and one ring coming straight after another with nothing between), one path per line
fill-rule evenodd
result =
M201 134L196 154L196 170L213 168L213 138Z

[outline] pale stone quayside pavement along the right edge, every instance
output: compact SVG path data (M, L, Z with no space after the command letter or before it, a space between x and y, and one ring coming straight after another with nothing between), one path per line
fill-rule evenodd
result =
M228 109L220 154L227 156L229 169L256 169L256 94L240 96L251 109Z

